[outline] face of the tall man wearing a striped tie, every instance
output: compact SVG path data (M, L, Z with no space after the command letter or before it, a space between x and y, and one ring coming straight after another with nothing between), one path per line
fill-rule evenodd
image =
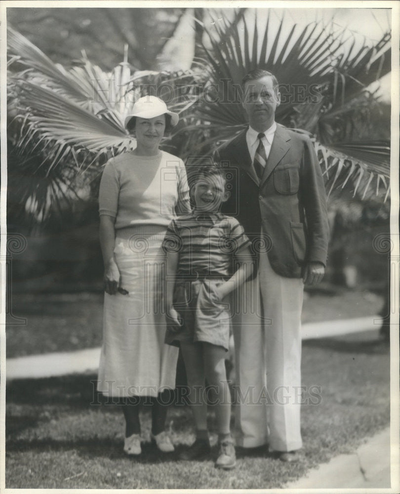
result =
M264 132L271 127L279 104L280 92L274 90L271 76L245 82L242 105L254 130Z

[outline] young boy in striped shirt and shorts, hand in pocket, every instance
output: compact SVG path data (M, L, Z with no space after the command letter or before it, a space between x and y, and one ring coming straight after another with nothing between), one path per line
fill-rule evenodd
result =
M165 342L181 348L196 425L196 441L180 458L199 459L210 452L206 379L217 395L219 456L215 466L223 469L236 464L225 371L231 323L228 295L244 283L251 270L250 241L243 228L235 218L219 212L228 197L223 169L212 166L200 170L192 188L193 212L172 220L163 242L170 323Z

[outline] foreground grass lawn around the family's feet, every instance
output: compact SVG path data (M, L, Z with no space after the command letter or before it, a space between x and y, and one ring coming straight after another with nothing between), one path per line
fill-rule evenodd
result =
M211 458L182 462L176 453L163 455L150 443L139 458L128 458L122 452L118 407L91 404L90 379L95 378L80 375L8 384L6 488L279 488L331 456L353 451L390 418L389 351L377 331L303 343L303 385L317 387L314 394L320 389L320 399L305 393L317 403L302 408L304 455L298 464L283 463L266 448L238 449L236 469L221 472ZM179 452L194 439L190 410L171 407L168 420ZM145 406L142 423L148 433ZM212 429L212 410L209 423Z

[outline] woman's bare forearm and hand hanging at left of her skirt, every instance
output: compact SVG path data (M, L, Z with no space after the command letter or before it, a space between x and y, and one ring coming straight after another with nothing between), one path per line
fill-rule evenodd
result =
M120 285L120 271L114 259L115 246L115 218L113 216L100 216L100 247L104 262L104 289L110 295L117 293Z

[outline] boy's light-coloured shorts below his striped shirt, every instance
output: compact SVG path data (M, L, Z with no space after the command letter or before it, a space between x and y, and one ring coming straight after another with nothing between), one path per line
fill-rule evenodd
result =
M214 291L222 283L222 279L177 281L174 308L183 324L167 325L165 343L179 346L180 342L205 341L229 350L230 297L218 301Z

